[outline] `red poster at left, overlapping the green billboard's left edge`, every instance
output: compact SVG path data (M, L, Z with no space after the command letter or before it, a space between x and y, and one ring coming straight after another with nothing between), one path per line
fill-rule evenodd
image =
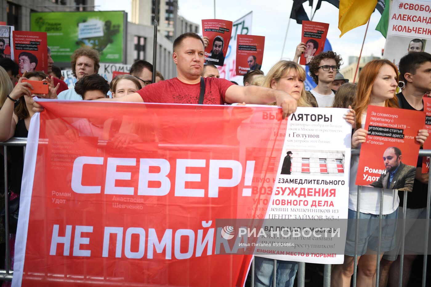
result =
M48 73L46 32L13 31L13 51L19 64L19 75L25 71Z

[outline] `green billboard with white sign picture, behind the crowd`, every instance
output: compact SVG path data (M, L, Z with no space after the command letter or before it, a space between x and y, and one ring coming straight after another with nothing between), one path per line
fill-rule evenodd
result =
M72 53L84 46L100 52L100 62L125 60L127 14L124 11L33 12L31 31L47 32L55 62L70 62Z

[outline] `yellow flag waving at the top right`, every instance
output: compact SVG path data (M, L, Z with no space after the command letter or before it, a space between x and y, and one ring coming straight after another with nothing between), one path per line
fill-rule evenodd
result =
M353 28L367 23L377 5L377 0L340 0L338 29L340 37Z

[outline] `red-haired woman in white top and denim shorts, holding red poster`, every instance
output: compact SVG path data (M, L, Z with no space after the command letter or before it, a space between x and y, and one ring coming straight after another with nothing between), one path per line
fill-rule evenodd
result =
M356 111L356 131L352 136L352 148L360 147L367 139L368 131L364 129L367 108L372 106L398 107L395 91L398 85L397 67L387 59L374 60L367 63L361 71L358 82L356 98L353 108ZM426 130L419 130L416 140L424 143L428 137ZM377 267L377 256L383 256L384 252L395 248L395 220L398 215L399 198L397 190L383 190L383 225L381 236L381 254L378 250L378 220L366 221L363 219L374 219L380 213L380 188L361 187L360 210L356 210L357 189L355 185L358 172L359 156L352 156L350 164L350 186L349 186L349 211L348 218L356 218L359 212L359 240L358 240L358 272L357 285L374 286L375 271ZM349 222L350 223L350 222ZM332 287L348 287L353 275L353 259L355 250L354 225L348 225L346 248L344 251L344 263L334 265L331 273Z

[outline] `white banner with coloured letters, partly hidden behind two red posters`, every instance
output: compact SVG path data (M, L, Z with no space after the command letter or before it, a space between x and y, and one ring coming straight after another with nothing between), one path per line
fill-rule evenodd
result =
M250 35L251 24L253 22L253 12L241 17L232 24L231 41L229 42L228 52L225 56L225 62L222 67L218 67L220 78L225 78L229 81L235 81L241 86L243 85L243 76L237 75L236 69L236 55L237 55L237 35Z

